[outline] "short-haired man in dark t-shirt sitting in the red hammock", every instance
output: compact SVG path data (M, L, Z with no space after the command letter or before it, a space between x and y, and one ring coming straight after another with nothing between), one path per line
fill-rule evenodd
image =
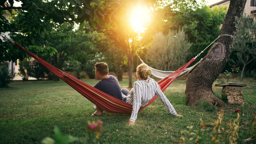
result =
M119 100L123 100L121 87L117 81L117 79L108 75L108 65L105 62L98 62L95 64L95 75L101 81L95 84L95 88L105 92ZM102 109L96 105L96 111L92 114L92 116L103 116Z

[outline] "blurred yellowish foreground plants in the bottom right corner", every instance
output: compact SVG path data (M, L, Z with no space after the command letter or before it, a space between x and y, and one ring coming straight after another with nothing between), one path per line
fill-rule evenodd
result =
M239 139L239 110L235 109L234 114L237 115L237 118L234 120L233 123L226 124L229 129L225 130L222 125L222 117L224 115L224 111L221 110L220 114L218 115L217 121L213 123L203 122L202 118L199 120L199 128L198 130L193 131L193 126L188 126L187 128L189 131L181 131L182 137L180 137L180 143L187 143L192 142L195 138L195 143L206 143L206 141L212 141L213 143L244 143L244 142L256 142L256 113L254 114L254 118L251 122L251 127L246 129L246 133L239 133L242 137L250 137L248 139ZM213 126L212 130L209 130L210 125ZM244 125L244 123L242 123ZM208 127L208 128L207 128ZM212 131L209 134L205 134L205 132ZM239 140L238 140L239 139Z

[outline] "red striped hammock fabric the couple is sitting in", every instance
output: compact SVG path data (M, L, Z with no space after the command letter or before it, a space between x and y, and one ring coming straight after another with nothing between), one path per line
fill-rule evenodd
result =
M122 100L119 100L117 98L112 97L111 95L104 93L95 87L86 84L82 82L81 80L64 73L63 71L59 70L58 68L53 67L50 65L50 63L47 63L46 61L38 58L33 53L30 53L29 51L25 50L22 46L20 46L18 43L13 43L15 46L17 46L19 49L25 51L28 53L31 57L33 57L38 62L42 63L46 68L52 71L55 75L60 77L64 82L69 84L71 87L73 87L77 92L81 93L85 98L90 100L95 105L98 105L103 110L107 111L108 113L119 113L119 114L131 114L132 113L132 105L129 103L126 103ZM193 62L195 58L190 60L185 66L181 67L180 69L176 70L171 75L163 78L161 81L158 82L158 84L161 86L162 91L164 91L173 81L175 78L179 76L179 74L186 68L188 65ZM148 105L150 105L152 102L154 102L157 99L157 96L153 99L151 99L148 102ZM145 107L147 107L146 105ZM144 109L145 107L141 107L139 111Z

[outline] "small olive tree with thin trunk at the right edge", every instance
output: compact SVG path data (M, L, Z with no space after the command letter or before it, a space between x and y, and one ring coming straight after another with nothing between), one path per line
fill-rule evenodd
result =
M244 14L241 26L237 31L233 51L237 55L237 62L243 63L241 78L244 77L245 67L256 58L256 22L252 15Z

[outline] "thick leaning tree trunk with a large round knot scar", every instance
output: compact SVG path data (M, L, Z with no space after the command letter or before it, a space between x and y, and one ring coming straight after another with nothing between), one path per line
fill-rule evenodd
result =
M230 1L220 35L236 36L245 3L246 0ZM221 36L187 78L185 91L187 105L195 106L201 100L207 101L210 105L220 107L224 105L224 102L213 93L212 84L227 64L234 44L231 36Z

